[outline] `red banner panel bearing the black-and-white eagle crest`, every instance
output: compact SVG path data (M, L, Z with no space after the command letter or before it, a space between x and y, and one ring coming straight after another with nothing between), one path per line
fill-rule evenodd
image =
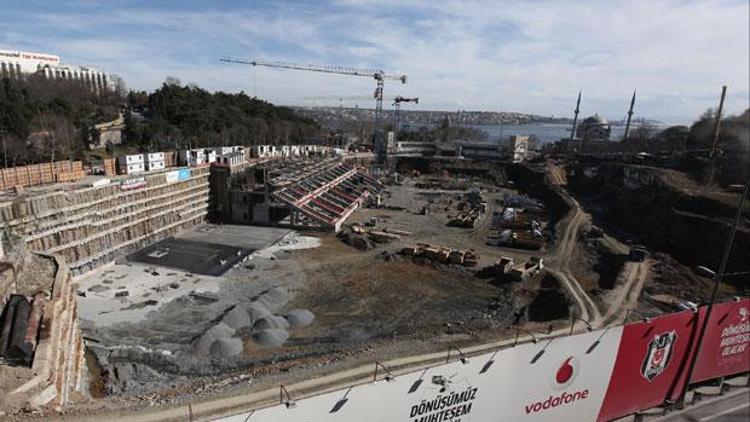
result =
M701 313L684 311L625 326L599 421L680 396L700 318Z

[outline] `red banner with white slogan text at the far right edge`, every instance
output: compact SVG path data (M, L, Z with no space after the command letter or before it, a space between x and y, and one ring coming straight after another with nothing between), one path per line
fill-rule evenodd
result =
M701 311L705 313L705 308ZM714 306L691 382L750 371L750 299Z

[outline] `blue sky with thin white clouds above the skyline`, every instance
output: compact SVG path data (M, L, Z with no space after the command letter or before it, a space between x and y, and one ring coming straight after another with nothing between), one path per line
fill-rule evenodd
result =
M219 63L224 56L401 71L386 95L420 109L582 112L688 121L718 102L749 106L750 10L718 1L36 1L3 0L0 48L55 53L67 63L153 89L167 76L282 104L338 105L370 95L367 78ZM305 100L331 96L331 100ZM361 106L367 103L361 103ZM413 106L409 106L413 107Z

